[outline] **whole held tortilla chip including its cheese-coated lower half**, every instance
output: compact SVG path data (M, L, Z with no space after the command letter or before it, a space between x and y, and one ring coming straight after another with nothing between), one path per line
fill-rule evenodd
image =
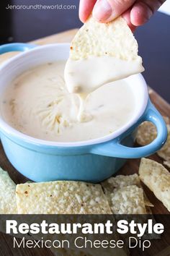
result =
M99 23L90 17L71 42L65 80L70 93L91 93L143 70L138 43L125 20Z

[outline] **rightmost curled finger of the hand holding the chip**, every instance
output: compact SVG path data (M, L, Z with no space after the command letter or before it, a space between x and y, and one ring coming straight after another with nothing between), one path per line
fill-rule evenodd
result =
M135 26L146 23L165 0L138 0L130 12L130 22Z

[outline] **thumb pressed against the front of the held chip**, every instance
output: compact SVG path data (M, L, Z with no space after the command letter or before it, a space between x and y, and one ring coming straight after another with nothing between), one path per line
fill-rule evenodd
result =
M134 2L135 0L97 0L93 17L98 22L110 22L129 9Z

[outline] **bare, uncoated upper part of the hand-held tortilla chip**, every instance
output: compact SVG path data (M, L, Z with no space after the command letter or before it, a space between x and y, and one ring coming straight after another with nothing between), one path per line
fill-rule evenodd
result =
M113 22L99 23L90 17L71 42L73 60L89 56L112 56L121 60L135 60L138 43L122 17Z

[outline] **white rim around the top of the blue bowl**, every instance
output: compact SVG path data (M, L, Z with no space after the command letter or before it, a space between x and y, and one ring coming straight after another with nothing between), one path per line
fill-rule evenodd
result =
M17 56L12 57L12 59L8 59L0 66L0 72L3 72L3 69L6 68L9 64L13 64L14 61L20 58L24 58L24 56L29 55L32 52L35 51L43 51L45 48L56 48L56 47L69 47L70 43L54 43L54 44L48 44L45 46L36 46L35 48L31 48L29 51L24 51ZM138 111L135 116L133 116L130 121L128 121L123 127L120 127L120 129L117 129L115 132L112 132L109 135L105 135L103 137L99 137L93 140L84 140L79 142L53 142L50 140L41 140L37 139L35 137L31 137L29 135L25 135L22 132L17 131L17 129L14 129L9 124L4 121L0 116L0 129L3 131L4 134L7 134L9 137L15 137L19 140L23 140L24 142L41 145L41 146L53 146L53 147L66 147L66 148L75 148L75 147L83 147L83 146L89 146L89 145L96 145L103 142L108 142L110 140L114 140L115 138L122 135L124 132L126 132L130 127L133 127L135 123L137 123L138 119L144 114L146 110L146 106L148 104L148 88L146 85L146 81L143 78L142 74L135 74L133 75L135 77L138 77L138 80L141 84L143 84L143 92L144 92L144 100L143 104L140 107L140 111ZM1 132L1 131L0 131Z

